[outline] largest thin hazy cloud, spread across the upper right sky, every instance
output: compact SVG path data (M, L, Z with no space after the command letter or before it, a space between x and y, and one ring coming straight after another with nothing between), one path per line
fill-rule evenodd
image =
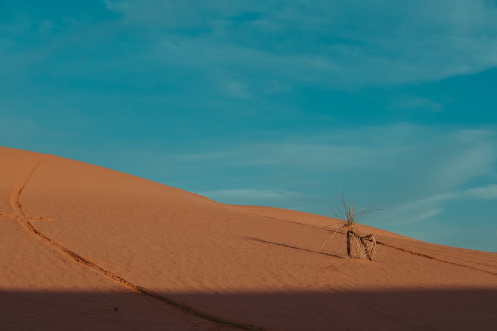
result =
M105 3L126 24L171 30L167 37L158 32L156 42L158 47L174 43L176 53L164 50L159 58L221 66L239 75L250 68L294 83L350 88L437 80L497 66L497 9L491 1ZM260 17L237 19L247 12ZM288 42L276 41L278 36Z

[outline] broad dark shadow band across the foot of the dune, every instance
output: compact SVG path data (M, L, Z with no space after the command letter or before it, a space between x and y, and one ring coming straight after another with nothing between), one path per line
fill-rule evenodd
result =
M160 294L253 330L495 330L497 323L495 288ZM135 293L0 290L1 330L237 330L200 322Z

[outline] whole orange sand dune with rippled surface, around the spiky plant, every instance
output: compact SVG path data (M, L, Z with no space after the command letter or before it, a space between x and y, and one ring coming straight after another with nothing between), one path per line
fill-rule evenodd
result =
M495 330L497 254L0 147L0 330Z

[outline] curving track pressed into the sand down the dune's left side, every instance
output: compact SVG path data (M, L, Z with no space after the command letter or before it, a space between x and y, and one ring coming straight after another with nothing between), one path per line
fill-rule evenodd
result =
M102 268L101 266L91 262L90 260L84 258L83 256L79 255L78 253L62 246L59 244L57 241L52 240L45 236L43 233L38 231L31 222L29 222L30 219L44 219L44 218L26 218L24 212L22 211L22 204L19 202L20 195L22 191L24 190L24 187L26 186L26 183L29 181L31 176L33 175L33 172L36 170L38 165L45 160L47 157L51 156L50 154L42 155L35 159L33 162L31 162L25 169L21 177L17 180L17 182L14 184L12 190L10 191L10 196L9 196L9 203L10 207L13 209L14 214L9 215L13 218L16 218L19 224L26 229L29 233L34 234L38 238L40 238L43 242L51 245L52 247L56 248L57 250L61 251L62 253L66 254L73 260L75 260L78 263L81 263L82 265L85 265L87 267L92 268L93 270L96 270L98 273L102 274L103 276L110 278L111 280L117 282L121 286L125 287L126 289L139 293L142 295L146 295L152 299L156 299L162 303L165 303L187 315L194 316L197 318L200 318L205 321L209 321L215 324L218 324L220 326L225 326L225 327L232 327L240 330L248 330L248 331L264 331L265 329L261 327L257 327L251 324L244 324L244 323L238 323L238 322L232 322L229 320L225 320L220 317L208 315L207 313L204 313L200 310L197 310L193 307L181 304L177 301L174 301L172 299L166 298L163 295L154 293L142 286L133 284L132 282L124 279L123 277L106 270ZM47 216L45 216L47 217ZM48 216L49 217L49 216Z

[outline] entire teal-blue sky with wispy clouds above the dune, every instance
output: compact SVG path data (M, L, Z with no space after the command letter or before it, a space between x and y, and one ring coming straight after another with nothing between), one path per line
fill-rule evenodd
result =
M497 1L0 1L0 145L497 252Z

